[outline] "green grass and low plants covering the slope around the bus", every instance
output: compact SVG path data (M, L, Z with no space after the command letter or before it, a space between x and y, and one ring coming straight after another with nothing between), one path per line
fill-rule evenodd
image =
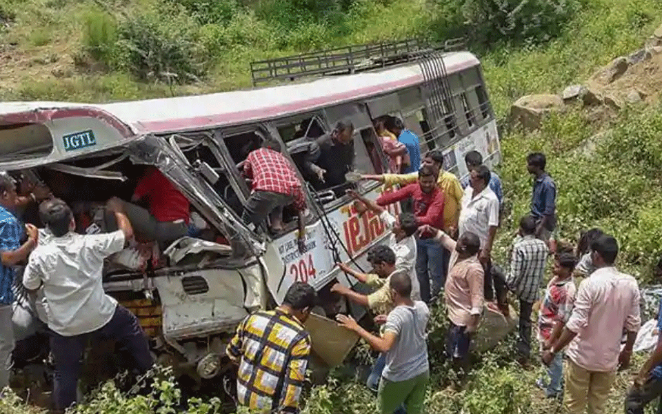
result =
M0 68L3 75L10 74L0 77L0 99L101 102L243 88L250 86L248 64L252 60L347 43L410 37L434 32L439 23L439 16L430 7L432 0L356 0L339 23L314 21L295 30L283 29L242 9L223 24L196 23L198 41L209 51L210 61L210 70L199 83L172 87L154 81L141 83L126 71L95 70L93 65L75 70L67 79L50 76L52 65L63 61L43 57L52 55L53 50L59 56L76 55L90 46L106 50L101 46L114 39L116 27L94 19L94 13L121 17L122 12L147 10L155 1L114 0L99 6L91 0L0 0L1 14L12 17L8 29L0 30L0 44L17 45L12 61ZM481 52L490 99L498 117L508 115L512 101L522 95L560 92L565 86L583 82L615 57L641 48L645 38L661 23L657 0L591 0L565 26L561 36L548 43L501 45ZM94 36L85 34L90 28ZM86 43L86 39L92 43ZM2 53L0 48L0 57ZM30 59L40 59L43 64L23 68L21 65ZM79 66L86 66L85 59L77 60ZM608 128L612 135L593 155L572 155L572 150L585 139ZM662 168L662 107L631 108L617 121L605 119L597 124L587 121L580 110L571 110L549 117L543 128L533 134L504 131L501 145L503 163L499 172L505 195L512 203L512 215L500 231L497 259L505 259L511 241L508 235L528 209L530 177L525 171L525 155L543 150L550 160L548 170L559 186L559 237L574 239L583 228L601 226L621 243L619 266L642 283L652 280L651 264L662 253L662 197L657 190L662 184L658 176ZM439 337L444 329L443 308L434 311L433 317L431 335ZM434 376L426 402L429 411L562 413L559 404L543 400L534 388L539 372L524 371L510 363L511 355L512 341L481 355L467 390L459 394L445 391L448 372L433 355ZM641 366L643 357L636 357L635 368ZM619 375L610 395L608 413L622 411L629 375ZM305 413L372 413L373 404L372 395L353 377L331 375L329 384L312 390ZM138 408L131 411L148 412Z

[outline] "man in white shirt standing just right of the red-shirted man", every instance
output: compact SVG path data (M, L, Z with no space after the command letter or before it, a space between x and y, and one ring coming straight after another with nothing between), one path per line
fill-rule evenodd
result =
M459 234L474 233L481 240L479 259L485 270L485 300L494 300L492 280L492 244L499 226L499 199L490 189L490 169L477 166L471 170L469 184L462 197L462 210L459 220ZM497 299L505 297L505 292L497 292ZM499 308L507 308L499 304ZM503 311L503 309L502 309Z

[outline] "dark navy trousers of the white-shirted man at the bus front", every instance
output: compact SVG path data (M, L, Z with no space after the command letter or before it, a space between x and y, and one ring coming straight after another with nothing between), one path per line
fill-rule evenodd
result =
M110 321L89 334L70 337L52 333L50 349L55 360L53 395L55 408L64 411L76 402L77 384L81 375L81 365L86 339L89 336L115 339L126 346L140 373L146 373L154 364L150 346L138 319L127 308L117 305Z

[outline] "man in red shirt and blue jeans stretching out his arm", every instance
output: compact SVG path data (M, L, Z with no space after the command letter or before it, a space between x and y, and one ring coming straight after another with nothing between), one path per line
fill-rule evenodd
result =
M431 166L419 170L419 182L404 186L392 193L383 193L377 204L386 206L411 197L414 201L414 216L417 224L428 224L434 228L443 228L443 193L437 187L439 172ZM444 284L441 268L443 247L429 239L417 238L416 275L421 286L421 299L430 303L441 291ZM430 269L430 270L428 270ZM432 291L430 291L432 279Z

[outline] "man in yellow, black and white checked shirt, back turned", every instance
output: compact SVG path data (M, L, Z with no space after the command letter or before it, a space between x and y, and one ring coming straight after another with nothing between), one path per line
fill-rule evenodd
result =
M241 322L226 350L239 364L239 404L269 413L299 413L311 345L303 324L316 302L312 286L297 282L281 306Z

